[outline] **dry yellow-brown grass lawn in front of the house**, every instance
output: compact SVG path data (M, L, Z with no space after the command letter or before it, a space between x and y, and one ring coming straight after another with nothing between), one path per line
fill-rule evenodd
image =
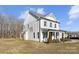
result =
M79 43L39 43L19 39L0 39L1 54L79 53Z

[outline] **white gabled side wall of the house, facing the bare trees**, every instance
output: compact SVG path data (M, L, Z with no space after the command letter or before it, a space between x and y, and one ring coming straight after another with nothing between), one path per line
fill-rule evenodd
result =
M37 33L39 32L39 21L37 21L37 19L34 16L30 15L29 13L25 21L27 22L24 22L25 27L24 39L39 41L37 35ZM35 33L35 38L33 33Z

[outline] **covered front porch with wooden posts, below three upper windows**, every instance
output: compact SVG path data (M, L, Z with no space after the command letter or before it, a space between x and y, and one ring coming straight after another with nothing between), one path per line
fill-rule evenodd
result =
M52 42L52 40L58 39L60 41L60 31L56 30L42 30L41 31L41 40L42 42Z

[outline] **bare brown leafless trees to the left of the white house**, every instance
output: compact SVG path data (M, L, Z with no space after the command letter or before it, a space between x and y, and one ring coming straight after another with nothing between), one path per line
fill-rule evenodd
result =
M16 17L0 14L0 38L20 38L22 24Z

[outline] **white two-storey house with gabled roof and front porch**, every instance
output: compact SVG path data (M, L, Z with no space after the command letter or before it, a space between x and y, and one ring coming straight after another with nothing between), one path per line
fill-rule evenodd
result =
M52 13L42 15L29 11L24 21L23 38L47 42L49 37L52 38L51 40L66 37L65 32L60 29L60 23L56 17Z

